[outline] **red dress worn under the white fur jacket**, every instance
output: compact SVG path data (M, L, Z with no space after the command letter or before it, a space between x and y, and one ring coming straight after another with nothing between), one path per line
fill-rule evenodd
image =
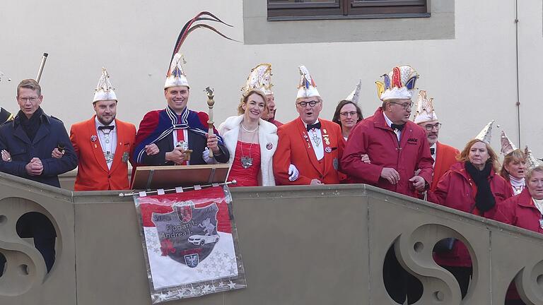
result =
M242 153L243 152L243 153ZM252 165L243 168L242 157L251 157ZM235 157L232 162L228 181L235 180L237 184L230 186L259 186L258 173L260 172L260 145L257 143L245 143L238 140L235 145Z

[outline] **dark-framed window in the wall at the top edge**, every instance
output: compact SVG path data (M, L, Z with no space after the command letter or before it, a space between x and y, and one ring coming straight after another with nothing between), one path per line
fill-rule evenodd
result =
M428 17L427 0L267 0L268 20Z

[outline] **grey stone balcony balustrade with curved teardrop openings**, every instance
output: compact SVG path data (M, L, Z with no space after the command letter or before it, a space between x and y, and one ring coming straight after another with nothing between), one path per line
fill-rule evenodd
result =
M416 304L503 304L511 281L543 304L543 236L371 186L232 188L247 289L168 304L395 304L383 284L391 246L424 285ZM0 304L151 304L132 198L72 193L0 173ZM16 233L28 212L57 230L47 273ZM462 301L433 261L437 241L467 245L474 275Z

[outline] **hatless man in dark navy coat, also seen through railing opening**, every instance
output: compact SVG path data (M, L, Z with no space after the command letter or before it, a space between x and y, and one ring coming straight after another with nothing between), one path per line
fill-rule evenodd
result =
M42 100L42 90L35 80L22 80L17 86L21 110L13 121L0 126L0 150L8 152L7 160L0 160L0 172L60 187L58 175L76 168L77 157L64 124L43 112ZM64 148L61 158L52 157L55 148ZM49 271L57 236L52 223L45 215L30 212L21 217L16 229L21 237L34 237Z

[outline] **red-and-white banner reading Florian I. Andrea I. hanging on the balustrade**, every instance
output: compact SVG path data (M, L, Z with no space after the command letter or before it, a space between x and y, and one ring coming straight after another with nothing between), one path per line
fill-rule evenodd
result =
M225 191L134 196L153 304L245 287Z

